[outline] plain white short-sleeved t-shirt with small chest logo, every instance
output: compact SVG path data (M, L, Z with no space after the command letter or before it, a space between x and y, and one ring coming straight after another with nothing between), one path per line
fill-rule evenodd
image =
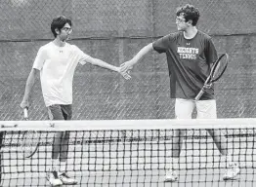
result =
M72 103L72 82L78 62L85 64L90 56L74 45L64 47L50 42L42 46L34 60L33 68L40 70L40 80L45 105Z

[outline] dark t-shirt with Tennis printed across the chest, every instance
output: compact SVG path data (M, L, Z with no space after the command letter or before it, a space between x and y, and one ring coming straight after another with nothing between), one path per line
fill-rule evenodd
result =
M209 76L211 63L218 57L210 36L197 31L192 39L186 39L183 32L176 32L156 40L152 46L167 56L171 97L193 99ZM212 88L200 99L213 97Z

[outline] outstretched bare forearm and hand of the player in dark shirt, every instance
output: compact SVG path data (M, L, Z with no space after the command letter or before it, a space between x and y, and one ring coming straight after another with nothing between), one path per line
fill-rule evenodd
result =
M152 50L153 50L152 43L150 43L149 45L145 46L142 50L140 50L140 52L136 56L134 56L131 60L122 63L121 71L126 72L127 70L132 69L133 65L138 63L144 56L149 54L149 52L151 52Z

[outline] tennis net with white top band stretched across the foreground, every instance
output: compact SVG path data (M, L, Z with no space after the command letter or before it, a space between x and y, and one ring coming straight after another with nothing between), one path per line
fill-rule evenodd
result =
M68 131L65 170L76 186L254 186L256 119L1 122L1 185L49 186L56 132ZM179 178L166 182L175 131L183 130ZM240 173L223 180L227 163L205 130L218 130ZM23 134L39 147L24 158ZM32 138L32 136L31 136Z

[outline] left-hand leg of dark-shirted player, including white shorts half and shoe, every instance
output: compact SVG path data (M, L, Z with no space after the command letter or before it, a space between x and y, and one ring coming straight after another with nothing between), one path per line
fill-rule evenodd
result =
M192 119L194 103L192 100L177 98L175 102L176 119ZM175 130L172 138L172 155L169 170L166 172L165 181L173 182L178 179L175 168L179 168L179 158L182 151L185 130Z

